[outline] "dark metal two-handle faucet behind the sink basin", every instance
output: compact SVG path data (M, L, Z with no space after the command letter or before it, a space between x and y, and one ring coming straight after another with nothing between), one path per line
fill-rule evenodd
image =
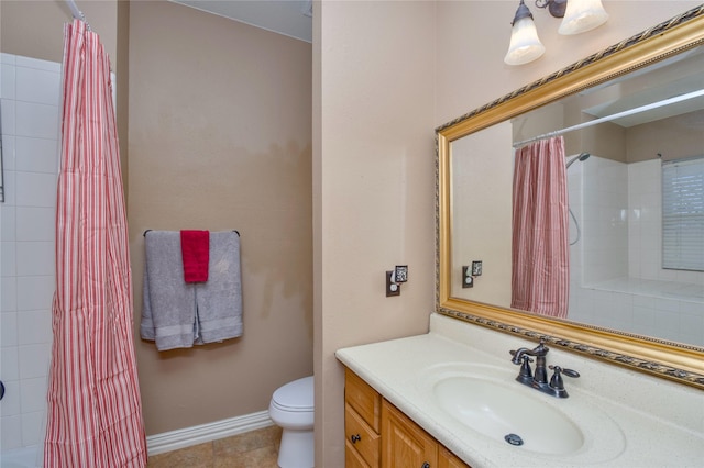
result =
M517 366L520 366L520 370L518 371L518 377L516 377L516 380L525 386L532 387L536 390L548 393L552 397L568 398L569 394L564 389L562 375L576 378L580 377L580 372L572 369L563 369L560 366L547 366L546 356L548 355L549 350L550 348L546 346L543 339L540 339L540 344L532 349L512 349L509 353L514 357L510 361ZM535 374L530 368L530 363L532 363L532 359L530 357L536 358ZM550 381L548 381L548 368L553 371Z

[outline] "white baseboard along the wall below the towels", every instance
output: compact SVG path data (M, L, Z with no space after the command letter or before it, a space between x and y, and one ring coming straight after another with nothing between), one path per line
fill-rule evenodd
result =
M146 437L146 452L148 455L158 455L272 425L274 422L268 417L268 411L260 411L229 420L150 435Z

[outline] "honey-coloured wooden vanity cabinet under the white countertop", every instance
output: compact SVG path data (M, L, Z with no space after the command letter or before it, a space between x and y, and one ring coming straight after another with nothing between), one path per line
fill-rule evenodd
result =
M346 368L344 435L346 468L469 468Z

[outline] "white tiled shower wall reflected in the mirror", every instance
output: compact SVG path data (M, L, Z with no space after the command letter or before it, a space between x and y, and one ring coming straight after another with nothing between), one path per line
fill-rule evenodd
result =
M570 319L704 346L704 272L660 267L660 160L592 156L568 178L583 233L570 248Z

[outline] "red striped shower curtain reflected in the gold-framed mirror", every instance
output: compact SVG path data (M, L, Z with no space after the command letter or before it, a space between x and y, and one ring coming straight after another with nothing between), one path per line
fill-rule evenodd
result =
M512 308L568 315L568 213L562 136L519 148L514 167Z

